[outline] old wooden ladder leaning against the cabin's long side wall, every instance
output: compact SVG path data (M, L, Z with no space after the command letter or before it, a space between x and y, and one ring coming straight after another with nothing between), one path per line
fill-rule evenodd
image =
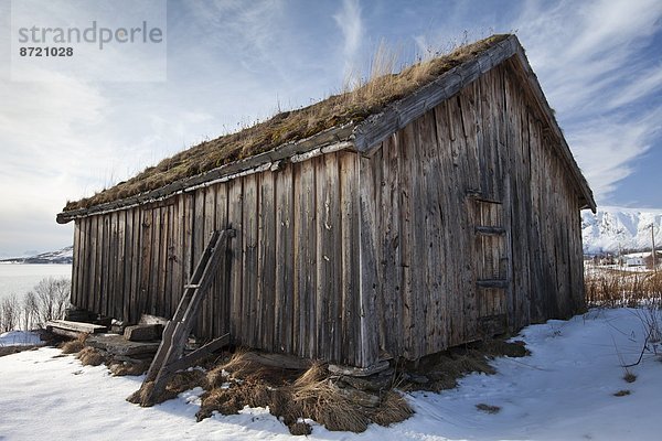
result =
M200 358L229 343L229 334L225 334L184 355L184 347L195 324L202 298L212 283L216 269L225 268L227 241L234 236L234 229L225 229L216 230L210 237L189 283L184 286L184 294L177 306L174 316L163 330L161 345L147 372L147 377L140 389L127 398L128 401L142 407L163 401L166 386L172 375L192 366Z

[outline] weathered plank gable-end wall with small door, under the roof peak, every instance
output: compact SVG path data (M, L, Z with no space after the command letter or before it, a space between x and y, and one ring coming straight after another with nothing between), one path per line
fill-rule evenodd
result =
M492 69L362 160L375 258L362 250L361 271L376 281L372 332L393 355L581 308L578 190L513 72Z

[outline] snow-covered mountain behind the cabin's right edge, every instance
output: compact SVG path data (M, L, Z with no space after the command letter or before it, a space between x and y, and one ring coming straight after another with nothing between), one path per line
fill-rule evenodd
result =
M616 252L651 248L651 224L655 248L662 248L662 209L598 207L581 212L584 252Z

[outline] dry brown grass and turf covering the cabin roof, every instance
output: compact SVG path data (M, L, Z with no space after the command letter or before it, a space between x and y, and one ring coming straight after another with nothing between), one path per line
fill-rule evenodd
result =
M273 150L284 143L311 137L325 129L350 122L357 123L508 36L492 35L460 46L450 54L416 63L399 74L373 76L353 90L332 95L301 109L280 112L253 127L202 142L94 196L67 202L64 211L88 208L149 192L174 181Z

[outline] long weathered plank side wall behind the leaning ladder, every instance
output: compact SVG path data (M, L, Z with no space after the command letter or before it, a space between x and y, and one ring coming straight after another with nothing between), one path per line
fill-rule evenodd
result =
M76 220L72 301L136 322L172 316L214 229L235 228L195 333L362 365L359 158L333 152Z

